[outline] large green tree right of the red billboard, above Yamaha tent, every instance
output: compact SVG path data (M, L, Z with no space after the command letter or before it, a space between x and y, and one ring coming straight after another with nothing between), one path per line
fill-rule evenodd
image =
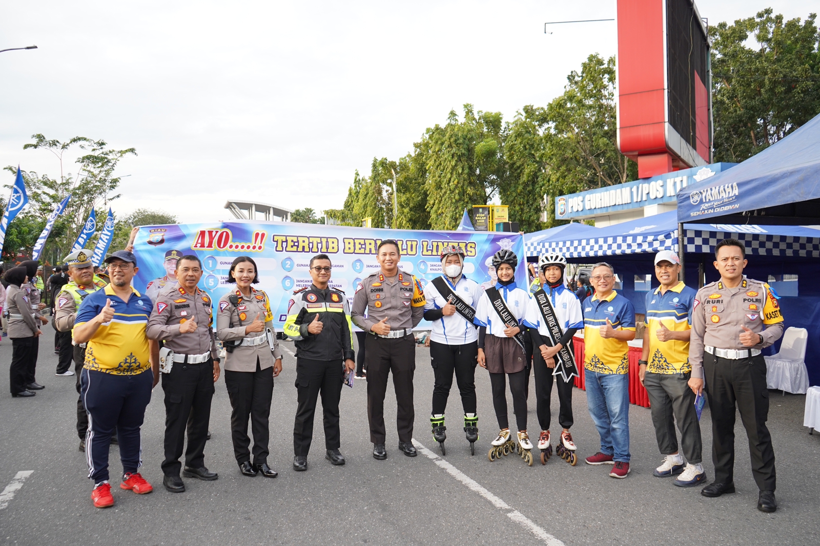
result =
M716 162L742 162L820 112L816 18L801 25L768 8L709 28Z

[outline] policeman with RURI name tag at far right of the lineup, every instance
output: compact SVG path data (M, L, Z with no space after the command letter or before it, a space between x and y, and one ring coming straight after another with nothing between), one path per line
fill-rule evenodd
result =
M704 390L712 410L712 457L715 481L700 491L704 497L734 493L735 407L749 436L752 474L760 489L758 510L774 512L776 485L772 436L766 427L768 388L766 362L760 349L783 334L777 295L769 285L746 279L745 247L724 239L715 247L714 266L721 280L695 295L689 362L690 388Z

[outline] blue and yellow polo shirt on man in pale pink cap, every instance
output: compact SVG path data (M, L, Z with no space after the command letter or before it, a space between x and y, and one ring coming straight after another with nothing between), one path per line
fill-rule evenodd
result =
M687 374L692 371L689 363L688 341L660 341L658 330L663 323L672 331L692 328L692 308L695 289L679 282L666 293L660 287L646 293L646 334L649 342L649 363L646 371L655 374Z

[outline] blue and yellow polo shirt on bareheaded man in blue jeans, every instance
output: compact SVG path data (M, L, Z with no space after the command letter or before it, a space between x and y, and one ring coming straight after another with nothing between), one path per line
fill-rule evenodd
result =
M607 320L615 330L635 331L635 307L613 290L606 298L598 294L586 298L584 309L584 367L599 374L626 374L629 371L629 344L620 339L604 339L599 328Z

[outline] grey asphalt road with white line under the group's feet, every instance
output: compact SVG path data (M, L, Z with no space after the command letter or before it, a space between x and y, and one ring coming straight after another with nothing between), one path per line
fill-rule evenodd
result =
M572 467L558 457L546 466L513 455L490 462L486 453L497 432L490 381L476 372L481 439L471 457L462 433L462 408L453 386L447 425L447 455L429 432L433 387L429 352L417 349L415 439L427 449L405 457L397 447L395 398L388 389L385 417L388 458L371 456L366 386L344 387L342 453L345 466L324 459L321 410L307 472L295 472L292 430L296 407L294 357L285 355L271 409L271 457L275 480L239 474L230 442L230 403L223 380L216 385L206 464L219 480L185 480L184 494L162 488L164 407L157 387L143 428L141 471L152 494L119 489L116 446L111 450L116 505L94 508L84 454L77 450L73 377L57 377L47 326L40 344L34 398L11 398L7 367L11 343L0 344L0 491L16 489L20 471L33 471L10 495L0 494L0 545L5 544L820 544L820 435L803 422L804 397L772 391L769 428L777 454L780 508L755 508L757 488L749 470L745 431L738 419L737 494L709 499L699 488L681 489L655 478L658 455L649 410L631 407L632 471L626 480L608 476L609 466ZM285 347L293 351L293 344ZM534 388L529 422L533 436ZM320 403L321 404L321 403ZM585 393L574 392L572 428L581 457L598 451L598 435ZM553 393L553 421L558 399ZM510 403L512 418L512 403ZM708 408L704 466L713 477ZM557 422L553 430L558 428ZM538 453L537 449L533 450ZM12 485L7 487L7 485ZM5 507L2 507L5 504Z

